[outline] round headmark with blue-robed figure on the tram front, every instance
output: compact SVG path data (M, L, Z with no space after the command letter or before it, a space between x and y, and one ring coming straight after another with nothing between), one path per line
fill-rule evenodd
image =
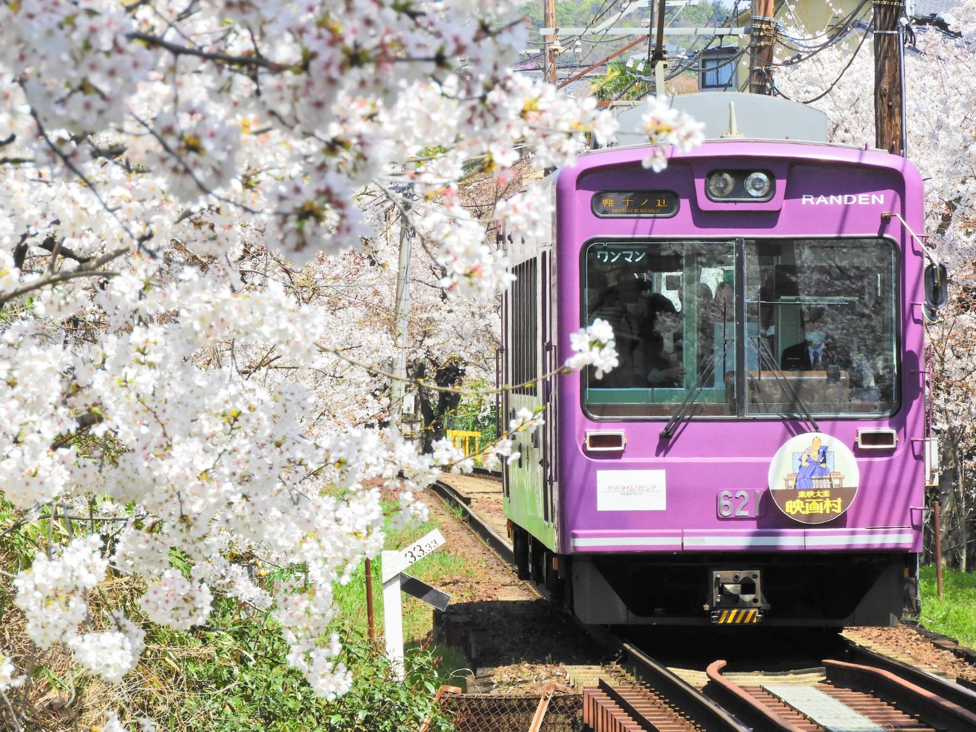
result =
M769 495L794 521L825 523L854 503L861 472L843 442L823 432L791 437L769 465Z

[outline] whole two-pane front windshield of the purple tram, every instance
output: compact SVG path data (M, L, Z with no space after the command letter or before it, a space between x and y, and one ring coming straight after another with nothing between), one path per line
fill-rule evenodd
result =
M620 361L602 379L587 374L587 411L668 417L691 392L692 416L891 413L894 247L777 239L736 250L729 241L586 247L586 321L610 323Z

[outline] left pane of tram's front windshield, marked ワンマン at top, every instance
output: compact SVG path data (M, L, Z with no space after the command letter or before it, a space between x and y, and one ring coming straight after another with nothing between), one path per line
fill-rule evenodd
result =
M585 321L614 331L619 365L587 374L594 416L735 414L733 248L728 242L594 242L584 253Z

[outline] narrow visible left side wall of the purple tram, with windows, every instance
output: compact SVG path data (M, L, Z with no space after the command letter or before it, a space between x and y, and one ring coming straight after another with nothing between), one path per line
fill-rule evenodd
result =
M512 267L517 279L511 284L505 302L503 338L506 342L505 381L511 388L503 399L503 427L515 419L519 410L535 413L546 406L552 396L551 380L541 377L554 355L549 332L549 251ZM528 530L549 549L555 544L553 530L552 483L549 470L551 432L547 429L552 415L543 414L547 426L532 433L511 435L512 452L519 457L506 469L506 515Z

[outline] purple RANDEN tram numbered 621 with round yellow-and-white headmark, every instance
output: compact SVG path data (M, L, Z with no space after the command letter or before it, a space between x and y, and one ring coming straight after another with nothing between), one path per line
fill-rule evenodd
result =
M717 140L590 152L508 237L505 510L516 564L583 622L895 625L924 485L922 183L905 158ZM620 365L546 376L602 318Z

